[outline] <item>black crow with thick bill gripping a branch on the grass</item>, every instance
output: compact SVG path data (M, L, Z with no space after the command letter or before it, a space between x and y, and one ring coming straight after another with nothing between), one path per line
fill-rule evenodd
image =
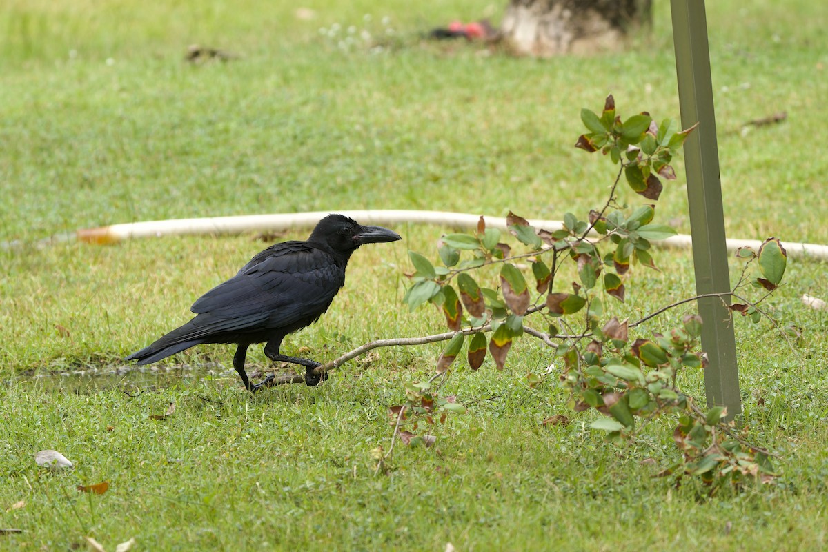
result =
M402 238L387 228L330 214L316 224L306 242L277 243L253 257L236 276L195 301L190 308L194 319L126 360L149 364L200 343L238 343L233 367L248 391L255 392L273 376L251 385L244 359L252 343L267 342L267 358L304 366L306 384L315 386L325 379L313 372L320 363L280 354L282 339L328 310L345 284L348 259L359 246L398 239Z

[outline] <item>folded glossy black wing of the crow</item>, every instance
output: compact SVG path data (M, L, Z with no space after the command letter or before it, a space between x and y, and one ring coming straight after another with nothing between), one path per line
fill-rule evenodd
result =
M344 267L328 253L303 242L283 242L253 257L191 310L224 331L286 328L318 318L343 285Z

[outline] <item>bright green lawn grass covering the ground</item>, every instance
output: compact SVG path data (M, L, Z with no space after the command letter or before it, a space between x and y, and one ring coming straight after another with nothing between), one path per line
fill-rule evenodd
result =
M581 107L599 108L612 92L623 113L678 115L663 2L652 36L632 50L546 61L417 38L455 17L497 19L500 2L307 7L315 19L261 2L12 1L0 14L0 241L310 209L561 218L595 207L609 184L609 165L571 147ZM805 0L708 6L730 237L828 242L828 161L817 149L828 117L825 16ZM342 51L318 31L337 22L394 34L383 34L380 54ZM241 57L185 65L191 43ZM777 111L787 122L739 132ZM658 216L688 232L681 180L667 186ZM432 310L408 313L400 300L407 249L431 255L445 229L396 229L404 241L359 251L335 305L289 338L288 351L306 346L328 359L373 338L442 330ZM484 400L450 417L434 448L398 445L382 477L371 450L388 448L386 409L402 401L405 382L430 373L436 345L381 351L325 386L252 398L221 346L120 385L14 379L118 366L262 247L241 236L0 251L0 377L9 381L0 386L0 527L26 530L0 535L0 550L67 549L83 535L107 550L131 536L139 550L826 546L828 315L799 301L828 296L819 262L791 262L773 299L774 314L803 330L796 352L767 324L737 320L745 420L779 455L782 476L715 497L695 483L672 488L640 463L676 457L667 422L616 449L584 429L590 416L570 413L554 381L529 388L525 375L549 355L527 339L504 372L487 362L453 373L447 392ZM686 253L660 252L657 262L662 272L631 276L627 312L692 294ZM250 362L267 366L260 351ZM143 392L130 397L122 388L133 383ZM700 377L685 385L703 395ZM170 401L174 415L148 419ZM575 423L542 428L552 414ZM40 449L59 449L76 468L41 471L31 461ZM75 492L103 480L103 496ZM7 510L18 501L25 506Z

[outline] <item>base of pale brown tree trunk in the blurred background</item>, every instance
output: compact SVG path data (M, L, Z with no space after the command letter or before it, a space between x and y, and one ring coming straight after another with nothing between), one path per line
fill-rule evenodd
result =
M517 54L589 54L623 46L651 14L652 0L510 0L501 30Z

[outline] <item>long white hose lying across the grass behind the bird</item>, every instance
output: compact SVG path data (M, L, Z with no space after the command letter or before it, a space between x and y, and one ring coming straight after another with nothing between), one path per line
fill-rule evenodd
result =
M351 210L336 211L365 224L395 225L402 223L439 224L455 228L477 228L479 215L465 213L450 213L444 211L408 211L408 210ZM128 238L148 238L184 234L212 234L216 236L239 234L245 232L281 232L291 228L312 228L320 218L331 211L313 211L310 213L288 214L250 214L235 217L211 218L179 218L174 220L154 220L142 223L123 223L78 230L75 235L56 235L46 238L41 243L78 239L87 243L117 243ZM506 229L506 219L500 217L485 217L486 225L490 228ZM546 230L563 228L558 220L530 220L532 226ZM656 242L658 245L670 247L690 248L692 238L686 234L679 234ZM734 251L737 247L750 246L758 249L762 245L759 240L734 239L727 240L727 248ZM811 257L828 260L828 246L816 243L782 242L789 257Z

